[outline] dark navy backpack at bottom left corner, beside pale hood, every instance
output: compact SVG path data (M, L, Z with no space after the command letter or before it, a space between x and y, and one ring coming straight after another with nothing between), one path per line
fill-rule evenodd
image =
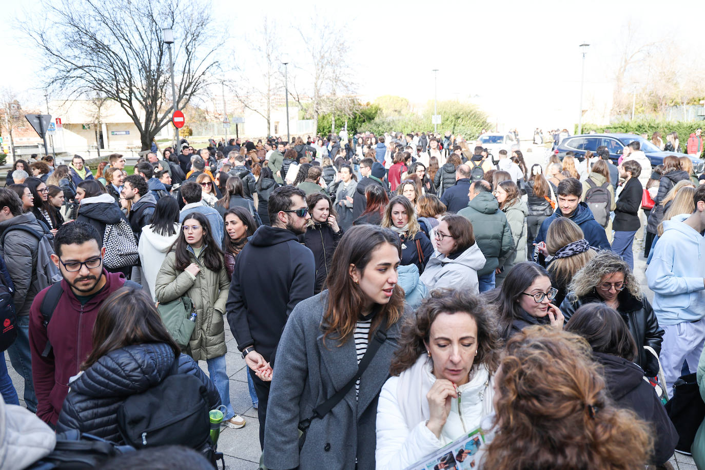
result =
M56 446L26 470L89 470L99 469L110 459L135 452L129 445L117 445L92 434L81 434L77 429L56 435Z

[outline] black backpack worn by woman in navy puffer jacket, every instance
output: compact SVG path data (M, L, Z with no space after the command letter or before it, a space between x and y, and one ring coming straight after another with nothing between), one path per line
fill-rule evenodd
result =
M178 358L172 372L176 371ZM172 373L145 392L131 395L118 408L118 431L136 449L183 445L195 449L215 465L210 431L208 392L199 378ZM223 461L224 466L224 461Z

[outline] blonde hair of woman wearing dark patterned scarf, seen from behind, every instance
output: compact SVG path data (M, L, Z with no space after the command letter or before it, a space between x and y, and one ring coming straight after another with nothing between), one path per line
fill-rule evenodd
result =
M577 223L568 217L558 217L548 225L546 233L546 249L548 254L555 256L556 252L572 242L582 240L585 237L582 229ZM548 272L553 279L561 285L568 285L572 277L595 256L595 250L590 248L587 252L582 252L568 256L567 258L556 258L548 264Z

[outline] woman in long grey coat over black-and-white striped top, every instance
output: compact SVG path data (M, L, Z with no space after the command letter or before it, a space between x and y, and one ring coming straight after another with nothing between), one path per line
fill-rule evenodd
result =
M377 397L405 316L400 257L391 230L350 228L333 254L339 268L329 273L328 290L291 312L272 373L267 420L276 424L264 429L267 468L374 469ZM346 391L332 411L312 414L336 390Z

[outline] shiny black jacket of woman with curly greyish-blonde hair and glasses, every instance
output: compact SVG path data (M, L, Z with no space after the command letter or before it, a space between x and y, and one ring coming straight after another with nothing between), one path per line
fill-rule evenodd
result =
M577 299L575 302L570 299L571 295L568 295L563 300L563 303L560 304L560 311L563 312L566 322L570 320L570 317L575 314L575 311L581 305L591 302L602 302L602 299L594 292ZM619 309L617 311L627 323L627 328L629 328L632 337L637 342L639 356L635 362L646 371L647 376L655 377L658 374L656 358L654 358L653 354L644 350L644 346L651 346L656 351L656 354L661 354L663 328L658 326L654 309L651 308L651 304L646 297L639 300L626 289L619 293L617 299L619 300Z

